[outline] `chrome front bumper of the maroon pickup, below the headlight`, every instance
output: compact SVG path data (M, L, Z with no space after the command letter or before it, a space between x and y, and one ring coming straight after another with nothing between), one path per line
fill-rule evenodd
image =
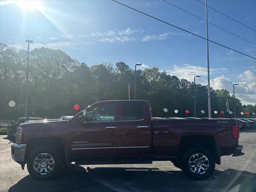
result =
M19 164L24 164L26 144L12 144L12 159Z

